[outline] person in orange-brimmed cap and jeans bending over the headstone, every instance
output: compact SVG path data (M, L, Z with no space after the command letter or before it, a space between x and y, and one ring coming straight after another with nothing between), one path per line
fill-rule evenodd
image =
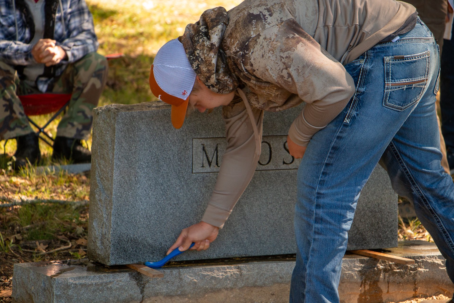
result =
M404 2L246 0L228 12L206 10L163 45L150 71L176 128L188 104L201 112L222 106L226 123L205 214L169 252L209 247L254 174L263 112L304 102L287 139L302 158L290 302L339 303L356 202L379 160L393 189L414 202L453 279L454 184L440 164L438 73L434 37Z

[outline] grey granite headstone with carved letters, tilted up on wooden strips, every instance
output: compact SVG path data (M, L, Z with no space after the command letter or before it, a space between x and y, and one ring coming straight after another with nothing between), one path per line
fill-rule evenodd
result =
M301 109L265 113L257 171L225 227L209 250L177 260L296 253L299 161L285 142ZM181 229L202 218L224 136L220 109L196 111L178 130L161 102L94 109L88 257L106 265L161 259ZM395 247L397 227L397 196L377 167L361 193L348 248Z

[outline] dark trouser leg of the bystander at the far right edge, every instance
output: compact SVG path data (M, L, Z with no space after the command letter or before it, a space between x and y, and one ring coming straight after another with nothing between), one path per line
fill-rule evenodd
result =
M446 143L449 167L454 174L454 35L453 39L444 40L441 66L443 67L440 72L441 131Z

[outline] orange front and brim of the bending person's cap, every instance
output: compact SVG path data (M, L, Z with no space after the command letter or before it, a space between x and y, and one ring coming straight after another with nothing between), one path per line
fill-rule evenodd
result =
M163 91L154 79L153 65L151 65L150 69L149 83L151 92L158 97L158 99L172 105L170 114L172 125L176 129L181 128L183 126L184 118L186 117L186 110L188 109L189 95L186 100L183 100Z

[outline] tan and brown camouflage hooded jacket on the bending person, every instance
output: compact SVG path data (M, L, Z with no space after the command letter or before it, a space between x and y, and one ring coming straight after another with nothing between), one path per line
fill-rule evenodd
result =
M238 97L223 107L227 150L202 220L222 226L251 180L263 110L304 101L289 136L306 146L355 92L343 65L400 30L414 13L412 5L395 0L246 0L228 12L207 10L189 24L181 41L199 78L216 93L241 88L246 94L244 102Z

